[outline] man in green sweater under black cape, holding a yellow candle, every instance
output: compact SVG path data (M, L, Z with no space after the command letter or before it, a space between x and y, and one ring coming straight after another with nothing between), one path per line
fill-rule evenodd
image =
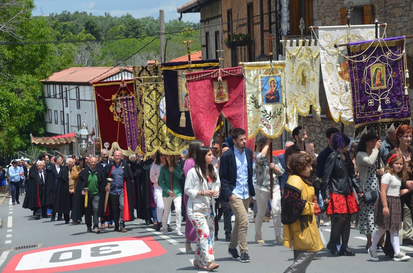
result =
M103 207L100 204L100 191L102 191L103 173L97 169L97 158L92 157L89 161L90 166L79 173L79 180L74 193L72 212L70 218L76 223L85 215L87 232L99 233L99 215L102 214ZM86 189L87 188L87 193ZM104 190L104 188L103 188ZM88 196L88 204L85 207L85 197Z

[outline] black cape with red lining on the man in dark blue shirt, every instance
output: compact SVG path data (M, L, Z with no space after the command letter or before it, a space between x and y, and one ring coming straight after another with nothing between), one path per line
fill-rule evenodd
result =
M102 177L103 183L102 187L100 190L100 202L99 202L99 211L101 212L100 216L104 217L104 199L106 196L106 191L105 187L107 186L107 178L109 178L112 175L112 167L114 165L114 162L110 162L104 169L102 170ZM129 165L122 160L121 162L122 169L123 169L123 221L133 221L135 219L134 216L134 209L133 209L133 174L132 174L132 169L129 167ZM110 177L112 178L112 177ZM112 204L110 204L110 198L108 200L108 208L106 209L109 213L113 215L112 213ZM119 209L119 208L118 208ZM106 214L107 214L106 212Z

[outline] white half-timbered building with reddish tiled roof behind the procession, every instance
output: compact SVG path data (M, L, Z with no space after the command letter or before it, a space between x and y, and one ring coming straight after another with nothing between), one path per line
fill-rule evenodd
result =
M82 120L99 136L92 82L133 79L132 67L71 67L54 73L43 83L48 135L77 132Z

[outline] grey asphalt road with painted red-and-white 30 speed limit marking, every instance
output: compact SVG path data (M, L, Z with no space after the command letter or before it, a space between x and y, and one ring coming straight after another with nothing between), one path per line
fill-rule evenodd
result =
M23 199L23 196L22 196ZM21 200L22 203L22 200ZM199 272L192 266L194 255L184 254L185 237L162 235L144 221L128 222L127 233L109 229L101 233L86 233L83 223L74 226L63 221L33 219L31 211L21 205L11 205L7 198L0 205L0 271L16 272ZM172 217L172 225L174 224ZM185 224L185 222L183 223ZM272 221L263 223L263 245L254 242L254 223L250 214L248 249L250 263L240 263L229 258L228 242L220 221L219 240L215 243L215 258L220 264L218 272L284 272L292 264L290 249L274 243ZM182 231L184 231L182 226ZM325 238L330 235L330 227L323 227ZM355 257L330 257L327 249L317 254L307 273L312 272L412 272L413 260L394 262L385 258L380 251L380 262L372 262L366 254L366 239L357 230L351 230L349 246L356 252ZM15 249L28 245L34 248ZM63 248L62 248L63 246ZM194 247L193 247L194 248ZM413 256L413 247L401 246L406 254Z

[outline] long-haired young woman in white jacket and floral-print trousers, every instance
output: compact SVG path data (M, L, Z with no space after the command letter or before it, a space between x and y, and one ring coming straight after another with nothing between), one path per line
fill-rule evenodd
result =
M214 198L218 197L221 183L213 162L211 148L199 147L195 155L195 167L189 170L184 189L189 196L187 215L197 231L194 266L208 271L218 268L218 264L214 263Z

